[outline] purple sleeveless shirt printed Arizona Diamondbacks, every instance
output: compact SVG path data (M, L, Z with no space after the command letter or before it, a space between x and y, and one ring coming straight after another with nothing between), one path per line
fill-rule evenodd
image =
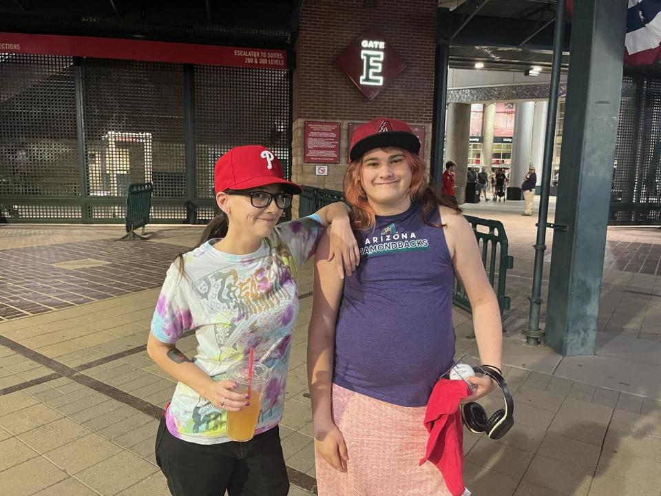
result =
M430 220L440 223L438 209ZM357 273L344 280L333 382L388 403L427 404L452 364L454 270L442 227L421 207L360 231Z

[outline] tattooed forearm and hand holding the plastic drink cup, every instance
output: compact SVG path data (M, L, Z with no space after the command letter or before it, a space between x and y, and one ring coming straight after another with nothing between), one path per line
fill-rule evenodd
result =
M209 400L216 408L239 411L249 402L246 395L235 393L233 382L214 381L193 360L179 351L175 344L160 342L152 333L149 333L147 353L161 369Z

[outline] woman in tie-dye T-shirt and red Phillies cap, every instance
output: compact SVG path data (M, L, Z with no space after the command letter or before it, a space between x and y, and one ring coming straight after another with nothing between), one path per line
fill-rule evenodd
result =
M299 310L297 272L331 222L340 273L342 260L348 274L355 269L357 245L343 203L276 225L302 188L284 179L280 161L263 146L229 150L216 163L214 182L222 214L200 244L171 265L151 320L149 356L178 381L158 428L156 462L176 496L226 490L231 496L285 496L289 483L277 425ZM197 341L192 360L176 348L188 332ZM254 437L235 442L228 437L227 412L244 409L259 395L236 392L227 370L249 355L270 369L271 379Z

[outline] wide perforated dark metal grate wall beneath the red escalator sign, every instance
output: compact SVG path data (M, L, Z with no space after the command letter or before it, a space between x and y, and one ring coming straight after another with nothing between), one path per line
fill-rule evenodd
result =
M291 176L290 70L0 54L0 222L123 223L150 182L152 221L204 223L213 165L251 143Z

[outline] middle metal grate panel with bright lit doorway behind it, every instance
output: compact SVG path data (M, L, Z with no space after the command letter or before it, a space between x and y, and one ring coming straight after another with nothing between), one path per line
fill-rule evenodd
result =
M90 196L125 197L154 183L154 198L185 198L182 66L86 60L85 152Z

